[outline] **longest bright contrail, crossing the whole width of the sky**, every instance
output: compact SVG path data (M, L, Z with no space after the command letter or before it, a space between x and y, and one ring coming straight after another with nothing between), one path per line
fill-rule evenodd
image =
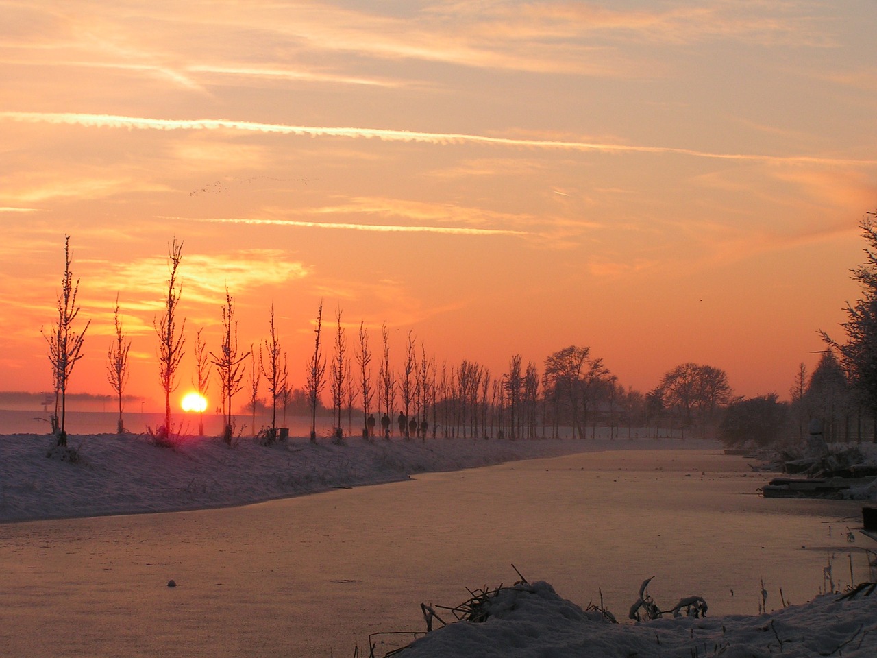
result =
M344 137L381 139L383 141L419 142L434 145L483 144L498 147L524 147L550 150L568 150L604 154L674 154L695 158L708 158L730 161L755 161L766 163L797 164L877 164L877 160L852 160L844 158L820 157L814 155L768 155L745 153L714 153L679 147L652 147L631 144L608 144L576 141L572 139L518 139L491 137L487 135L460 132L416 132L384 128L332 127L312 125L266 124L255 121L235 121L229 119L163 119L124 117L110 114L79 114L66 112L0 112L0 120L23 121L28 123L47 123L54 125L82 125L86 127L127 128L139 130L232 130L262 132L307 137Z

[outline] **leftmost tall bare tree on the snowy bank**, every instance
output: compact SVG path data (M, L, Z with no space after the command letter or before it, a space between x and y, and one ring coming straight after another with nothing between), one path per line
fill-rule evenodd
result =
M61 292L58 293L58 324L53 325L52 333L42 332L49 345L49 362L52 363L52 375L55 390L55 411L52 418L52 429L57 434L57 445L67 446L67 385L76 361L82 359L82 342L89 329L91 320L85 323L82 332L74 329L79 306L76 295L79 293L79 279L73 283L70 272L70 236L64 236L64 276L61 278Z

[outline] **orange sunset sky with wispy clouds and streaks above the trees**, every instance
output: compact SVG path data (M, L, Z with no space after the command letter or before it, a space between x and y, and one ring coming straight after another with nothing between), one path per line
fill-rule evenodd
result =
M695 361L787 397L858 294L875 25L873 0L0 0L0 390L52 388L68 233L75 392L111 393L118 295L127 392L159 399L176 237L181 395L227 285L242 345L274 302L299 386L322 298L351 348L386 322L396 365L409 331L492 375L575 344L638 390Z

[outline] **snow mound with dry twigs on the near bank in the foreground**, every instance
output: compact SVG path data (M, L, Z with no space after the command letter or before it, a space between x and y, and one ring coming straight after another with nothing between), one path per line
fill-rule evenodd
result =
M826 595L759 616L663 618L612 624L559 597L548 583L500 590L483 623L460 621L427 633L398 658L784 658L877 655L877 591Z

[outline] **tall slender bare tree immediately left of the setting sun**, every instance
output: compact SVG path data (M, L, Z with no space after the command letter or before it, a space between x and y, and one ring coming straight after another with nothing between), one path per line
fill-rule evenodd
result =
M161 390L165 394L165 424L160 427L157 439L165 443L170 438L170 394L176 389L176 371L182 361L182 347L186 342L183 331L186 326L186 318L182 318L177 326L177 311L182 295L182 283L176 278L176 270L182 261L182 242L174 242L168 245L168 297L165 299L165 312L160 318L153 319L155 333L159 337L159 382Z

